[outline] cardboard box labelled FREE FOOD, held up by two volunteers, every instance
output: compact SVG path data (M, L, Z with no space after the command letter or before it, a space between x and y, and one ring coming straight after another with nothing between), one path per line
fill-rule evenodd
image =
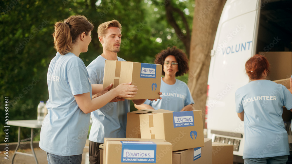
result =
M162 65L146 64L130 61L105 61L103 88L113 84L113 88L121 83L132 82L138 87L133 98L124 99L155 99L159 98Z

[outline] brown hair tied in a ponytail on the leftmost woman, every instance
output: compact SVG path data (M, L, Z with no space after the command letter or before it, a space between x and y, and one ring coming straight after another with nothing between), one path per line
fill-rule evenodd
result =
M67 54L81 33L88 35L92 30L93 24L83 15L74 15L63 22L56 22L53 33L55 49L62 55Z

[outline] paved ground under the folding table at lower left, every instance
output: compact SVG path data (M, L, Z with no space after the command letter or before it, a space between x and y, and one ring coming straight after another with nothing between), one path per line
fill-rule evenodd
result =
M26 150L21 150L20 152L24 152L24 153L32 153L32 151L30 149L26 149ZM36 159L38 160L39 164L47 164L47 155L46 152L43 151L40 148L34 148L34 152L36 154ZM3 153L3 151L0 153L0 163L1 164L11 164L12 163L12 156L14 154L14 151L9 151L9 158L8 160L4 159L4 157L6 157ZM85 146L83 154L82 154L82 164L89 164L88 161L88 157L86 157L86 155L88 155L88 146ZM87 159L87 160L86 160ZM30 156L24 156L24 155L20 155L20 154L16 154L15 158L13 160L13 164L34 164L36 163L34 160L34 157L30 157Z

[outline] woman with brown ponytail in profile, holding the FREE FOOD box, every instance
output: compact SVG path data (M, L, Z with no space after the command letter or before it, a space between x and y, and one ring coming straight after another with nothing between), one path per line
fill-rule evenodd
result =
M39 147L46 151L50 164L81 163L90 112L101 108L115 97L132 98L137 87L120 84L91 86L88 72L79 58L87 52L93 24L82 15L71 16L55 24L53 33L56 56L48 68L48 114L41 127ZM96 98L92 98L92 94Z

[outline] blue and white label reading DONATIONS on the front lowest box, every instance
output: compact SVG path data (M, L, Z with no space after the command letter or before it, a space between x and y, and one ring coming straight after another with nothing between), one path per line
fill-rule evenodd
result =
M156 163L156 144L154 142L121 141L122 163Z

